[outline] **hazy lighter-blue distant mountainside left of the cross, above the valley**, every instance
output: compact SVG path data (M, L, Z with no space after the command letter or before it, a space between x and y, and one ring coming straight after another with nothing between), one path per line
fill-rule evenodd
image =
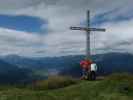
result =
M29 69L63 69L80 61L81 58L83 58L83 56L26 58L17 55L8 55L1 57L2 60L10 64Z

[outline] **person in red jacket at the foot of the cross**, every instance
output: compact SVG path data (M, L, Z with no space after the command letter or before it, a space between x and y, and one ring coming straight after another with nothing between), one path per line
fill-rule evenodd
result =
M80 66L82 68L82 77L81 77L81 79L86 78L86 76L88 75L89 70L91 69L91 64L92 63L93 62L91 60L82 60L80 62Z

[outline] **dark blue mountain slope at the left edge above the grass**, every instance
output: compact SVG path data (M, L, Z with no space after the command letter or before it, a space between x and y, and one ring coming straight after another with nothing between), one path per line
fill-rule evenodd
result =
M28 78L29 70L18 68L0 60L0 84L12 84Z

